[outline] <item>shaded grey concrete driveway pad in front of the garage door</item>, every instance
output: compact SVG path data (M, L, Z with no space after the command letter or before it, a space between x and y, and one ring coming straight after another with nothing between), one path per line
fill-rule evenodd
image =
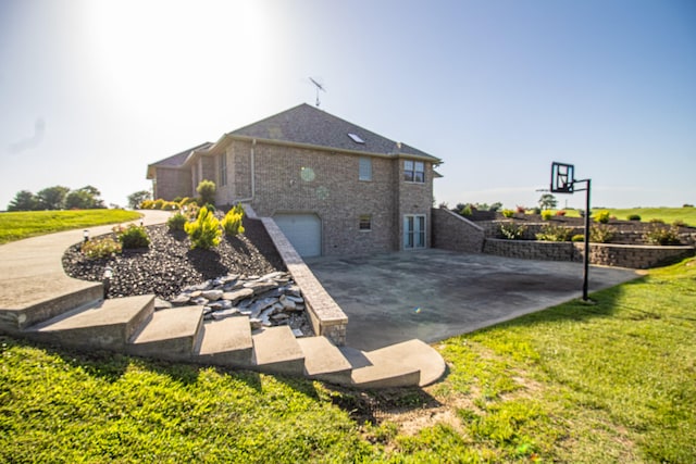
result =
M432 343L582 297L577 263L426 249L307 264L348 315L347 344L365 351ZM637 276L592 266L589 290Z

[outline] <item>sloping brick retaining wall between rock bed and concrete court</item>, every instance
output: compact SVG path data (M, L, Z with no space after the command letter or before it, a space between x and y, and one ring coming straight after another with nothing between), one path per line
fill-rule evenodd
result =
M346 328L348 326L346 313L324 290L324 287L304 264L275 221L271 217L258 217L249 204L244 204L244 208L248 218L261 221L287 271L302 290L307 314L309 314L314 334L325 336L337 347L346 344Z

